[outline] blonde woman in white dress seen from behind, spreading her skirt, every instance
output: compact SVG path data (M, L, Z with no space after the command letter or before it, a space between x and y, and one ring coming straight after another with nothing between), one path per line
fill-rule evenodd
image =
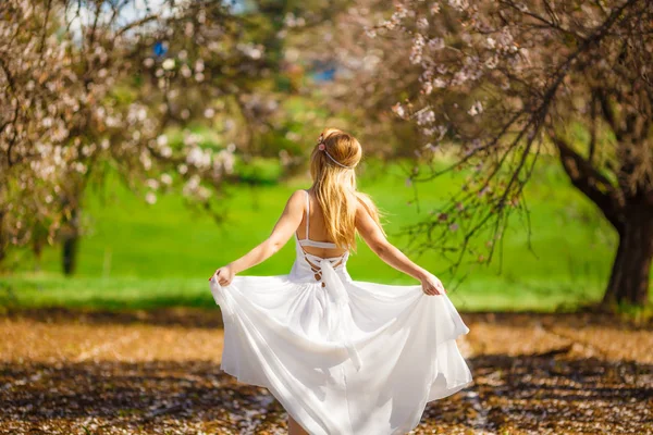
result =
M326 128L312 186L297 190L270 237L211 276L224 318L221 368L268 388L291 435L404 434L427 402L471 382L455 338L469 330L433 274L391 245L373 202L356 190L360 144ZM356 233L421 285L353 281ZM236 276L295 238L288 275Z

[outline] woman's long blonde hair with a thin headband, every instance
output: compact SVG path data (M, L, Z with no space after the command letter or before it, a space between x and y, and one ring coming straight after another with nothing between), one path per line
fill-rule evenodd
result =
M359 201L383 231L379 211L370 197L356 190L354 167L361 157L358 140L337 128L324 128L310 156L313 191L324 213L326 233L341 248L356 249L356 208Z

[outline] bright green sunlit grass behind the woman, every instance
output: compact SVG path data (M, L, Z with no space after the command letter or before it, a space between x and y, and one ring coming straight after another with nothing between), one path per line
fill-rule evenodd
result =
M361 190L386 212L386 231L399 248L406 238L399 229L424 219L455 191L459 175L419 185L419 208L411 202L399 165L364 167ZM212 307L207 278L212 272L262 241L291 192L309 186L308 179L260 187L231 186L225 200L227 217L219 226L211 217L189 210L180 196L163 196L146 204L116 181L104 195L89 191L84 222L88 234L79 246L74 277L60 274L60 252L44 252L40 270L22 251L12 257L17 271L0 276L0 306L65 306L91 308L152 308L167 306ZM498 262L488 268L466 266L456 279L440 275L448 265L436 252L414 258L441 276L452 288L461 310L553 310L597 300L606 283L616 243L612 228L587 199L568 186L556 166L542 166L527 189L531 209L531 245L515 219L505 235L502 274ZM455 235L454 235L455 236ZM482 240L481 240L482 241ZM247 271L278 275L294 260L291 240L267 262ZM415 284L379 260L366 246L348 263L355 279L389 284Z

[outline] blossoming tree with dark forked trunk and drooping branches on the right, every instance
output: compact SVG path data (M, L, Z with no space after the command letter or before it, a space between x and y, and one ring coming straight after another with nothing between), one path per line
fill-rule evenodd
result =
M393 107L417 125L423 153L453 150L470 175L440 213L411 228L457 250L489 233L491 261L542 152L619 236L604 303L645 304L653 261L653 3L646 0L399 1L378 38L411 40L419 92ZM447 245L449 228L464 233ZM436 229L442 229L440 233ZM439 234L439 236L438 236Z

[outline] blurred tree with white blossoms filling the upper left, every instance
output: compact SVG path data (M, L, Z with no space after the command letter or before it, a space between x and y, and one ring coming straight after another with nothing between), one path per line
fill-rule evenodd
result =
M72 273L85 189L109 171L150 203L180 186L211 210L278 107L268 35L223 2L9 0L0 16L0 260L61 238ZM197 120L223 144L169 140Z

